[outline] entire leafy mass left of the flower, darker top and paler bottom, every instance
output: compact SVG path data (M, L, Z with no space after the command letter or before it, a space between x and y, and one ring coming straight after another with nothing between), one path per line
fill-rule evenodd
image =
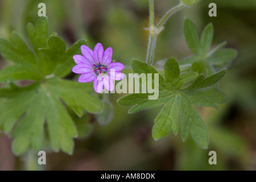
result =
M48 36L46 18L39 19L35 27L27 26L34 52L15 32L11 42L0 39L0 53L15 64L0 71L0 82L10 82L10 87L0 89L0 128L14 137L13 151L20 155L28 148L35 151L43 147L44 140L51 142L54 151L73 151L76 125L65 107L72 108L82 117L84 110L101 113L101 100L90 94L92 84L64 80L71 72L72 56L81 54L79 40L66 50L64 41L56 34ZM20 88L12 82L33 80L34 84Z

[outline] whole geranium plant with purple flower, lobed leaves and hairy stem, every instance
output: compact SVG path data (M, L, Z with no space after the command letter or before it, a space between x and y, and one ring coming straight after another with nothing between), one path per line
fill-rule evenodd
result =
M208 24L199 36L195 24L185 19L184 36L193 55L184 55L187 58L179 61L170 55L164 64L164 75L154 67L156 40L164 24L171 15L197 2L181 0L155 24L154 1L149 0L150 38L146 60L133 59L131 67L134 73L159 74L159 97L148 100L150 93L133 93L119 98L118 104L131 106L129 113L162 106L152 128L155 140L170 131L177 135L179 126L184 141L191 135L199 147L207 148L207 126L195 106L217 108L217 104L228 99L218 82L225 76L225 66L236 57L236 50L224 48L225 42L212 48L213 25ZM104 88L113 90L113 80L122 80L123 64L114 62L112 48L104 51L100 43L93 51L85 40L67 48L56 33L49 35L46 18L39 19L35 26L29 23L27 35L29 44L16 32L11 34L10 41L0 39L1 55L13 61L0 71L0 82L4 84L0 88L0 130L14 138L16 155L30 148L39 151L48 141L53 151L72 154L73 138L77 137L80 126L76 126L68 110L72 109L79 117L92 113L101 114L97 115L99 121L103 116L111 120L108 109L113 106L108 100L103 103L98 93ZM78 81L65 79L72 71L81 74ZM20 86L16 84L19 80L29 80L29 84Z

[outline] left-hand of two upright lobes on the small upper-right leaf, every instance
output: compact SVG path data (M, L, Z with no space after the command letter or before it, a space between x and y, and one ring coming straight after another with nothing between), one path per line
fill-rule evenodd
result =
M199 40L199 34L197 32L195 24L189 19L184 20L184 36L188 44L188 47L195 55L200 55L201 43Z

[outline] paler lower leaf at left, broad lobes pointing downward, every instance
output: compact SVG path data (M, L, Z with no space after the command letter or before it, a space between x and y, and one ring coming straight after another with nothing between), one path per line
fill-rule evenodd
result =
M69 87L72 85L73 88ZM38 151L44 140L46 121L53 150L63 150L72 154L72 138L77 137L77 130L60 99L71 107L79 106L89 112L99 113L103 109L102 102L97 97L86 93L86 86L88 85L51 78L44 84L36 83L28 88L9 89L10 93L16 92L16 95L13 94L15 97L2 104L3 114L0 116L0 125L5 132L14 130L12 133L14 141L26 139L28 142L26 147L21 147L19 142L14 142L14 153L20 155L27 148ZM19 118L21 120L18 125L15 125Z

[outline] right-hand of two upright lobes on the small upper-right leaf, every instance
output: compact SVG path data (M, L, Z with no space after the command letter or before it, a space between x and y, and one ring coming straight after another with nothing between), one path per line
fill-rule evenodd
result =
M209 52L210 46L212 45L213 39L213 24L209 23L205 28L201 35L201 48L202 55L206 56Z

